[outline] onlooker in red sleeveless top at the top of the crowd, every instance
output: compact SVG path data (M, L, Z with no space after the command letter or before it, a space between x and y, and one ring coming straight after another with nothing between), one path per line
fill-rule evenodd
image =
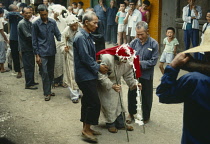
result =
M150 6L149 0L144 0L141 7L139 7L139 11L142 14L142 21L149 23L150 21L150 12L148 7Z

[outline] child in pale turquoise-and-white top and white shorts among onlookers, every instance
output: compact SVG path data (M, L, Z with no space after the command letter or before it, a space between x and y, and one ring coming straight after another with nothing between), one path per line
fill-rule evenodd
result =
M118 40L117 43L118 45L121 45L122 43L126 44L126 24L124 24L124 18L126 16L126 12L125 12L125 7L126 4L124 2L120 3L120 11L117 12L116 15L116 23L118 23ZM122 42L123 39L123 42Z

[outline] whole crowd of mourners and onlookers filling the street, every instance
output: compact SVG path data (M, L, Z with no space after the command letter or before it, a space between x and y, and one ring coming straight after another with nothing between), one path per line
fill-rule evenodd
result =
M188 5L183 8L186 50L190 47L190 39L193 47L198 46L198 19L202 16L201 7L195 5L195 0L187 1ZM8 66L11 67L12 60L17 78L22 77L21 67L24 69L25 89L36 90L39 84L34 79L37 68L36 73L42 78L45 101L55 96L51 90L52 86L68 88L73 103L78 103L82 97L82 136L85 140L97 142L95 135L101 133L91 129L91 125L98 124L100 110L106 118L109 132L117 133L120 129L133 131L133 127L127 124L131 124L137 114L137 89L141 89L141 121L143 124L150 121L154 67L158 61L159 44L149 35L149 0L144 0L140 6L136 0L124 0L118 7L114 0L110 1L110 7L107 7L103 0L98 0L94 8L84 10L83 6L82 1L73 2L65 8L52 1L43 0L35 13L34 7L25 3L11 4L9 12L3 8L3 3L0 3L0 71L8 72L9 69L6 69L4 64L7 59ZM208 43L206 35L209 34L210 11L207 12L206 19L201 42L205 48ZM116 47L105 49L105 42ZM210 50L196 49L193 51L194 58L183 53L177 55L179 42L173 27L166 29L163 44L164 51L160 57L159 68L164 76L157 88L160 102L185 103L187 114L184 115L182 143L208 143L210 140L207 135L195 132L198 127L193 124L197 121L192 124L188 122L193 117L189 111L191 102L199 109L205 107L208 114L210 111L206 91L209 90L208 86L204 91L199 89L201 83L209 85L210 72L206 65L209 64ZM197 66L200 64L196 64L197 60L202 60L206 67ZM166 69L164 63L167 64ZM176 82L178 69L186 67L189 71L199 73L193 73L192 76L189 73L190 77L183 76ZM126 118L122 103L121 78L129 87L129 115ZM191 84L195 86L194 89L189 88ZM198 97L200 93L203 97L201 99ZM201 117L202 112L197 109L194 111ZM199 132L202 131L199 129ZM205 137L205 140L202 137Z

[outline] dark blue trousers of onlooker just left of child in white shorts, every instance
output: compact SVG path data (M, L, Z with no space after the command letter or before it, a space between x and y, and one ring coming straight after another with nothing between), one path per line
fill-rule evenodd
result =
M107 25L106 41L117 43L117 25Z

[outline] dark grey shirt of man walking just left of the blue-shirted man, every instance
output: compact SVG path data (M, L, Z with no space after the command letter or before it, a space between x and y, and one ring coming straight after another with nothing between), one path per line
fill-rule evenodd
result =
M32 23L22 19L18 24L18 45L21 52L33 51L31 31Z

